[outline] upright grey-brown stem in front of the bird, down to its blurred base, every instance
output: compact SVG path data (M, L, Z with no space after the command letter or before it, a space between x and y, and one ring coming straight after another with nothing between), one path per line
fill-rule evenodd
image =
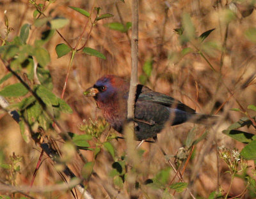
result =
M131 40L131 83L127 101L127 118L134 119L134 99L138 84L138 0L132 0L132 40Z

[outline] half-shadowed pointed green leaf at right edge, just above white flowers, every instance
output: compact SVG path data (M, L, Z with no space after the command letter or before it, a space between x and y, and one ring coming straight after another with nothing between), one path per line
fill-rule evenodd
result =
M244 131L234 130L234 129L227 129L222 131L224 134L230 136L234 140L237 140L239 142L243 142L245 144L248 144L249 142L252 142L253 140L256 140L256 135L253 135L252 133L246 133Z

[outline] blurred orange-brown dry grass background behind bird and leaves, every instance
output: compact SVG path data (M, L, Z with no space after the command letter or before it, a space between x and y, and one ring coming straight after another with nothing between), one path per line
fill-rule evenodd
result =
M41 1L36 1L40 3ZM42 1L42 4L45 2ZM197 112L204 114L217 114L221 116L221 122L214 131L214 142L209 145L209 151L204 156L200 170L196 176L193 193L196 198L208 198L212 191L220 187L225 193L230 185L230 174L227 165L216 154L216 147L225 145L228 149L241 151L244 144L232 140L224 135L222 131L230 124L244 116L240 112L230 111L230 108L239 108L237 101L242 107L255 105L255 32L253 25L256 23L256 13L253 11L251 2L241 1L139 1L139 74L140 82L147 85L154 91L162 92L175 99L179 99ZM48 2L46 1L46 4ZM237 6L238 4L238 6ZM241 6L242 4L242 6ZM100 7L101 13L111 13L113 17L99 20L93 26L92 33L86 47L94 48L106 56L106 60L78 52L75 55L70 76L65 92L65 101L73 110L72 114L62 114L61 124L68 131L83 134L79 125L83 121L92 119L95 121L100 117L101 112L96 108L91 98L83 96L83 92L102 75L114 74L129 80L131 72L131 30L122 33L108 27L109 23L119 22L126 24L131 22L131 1L98 0L98 1L65 1L57 0L49 4L45 15L51 17L68 18L67 26L59 29L61 35L74 47L79 40L87 18L68 6L75 6L91 11L93 7ZM28 1L0 1L0 35L4 38L6 29L4 26L4 10L8 16L9 26L13 31L9 34L8 40L19 34L20 27L25 24L33 24L33 12L35 7ZM182 24L186 24L186 16L190 16L193 25L187 29L192 30L195 37L189 41L182 38L177 31L181 30ZM187 17L188 18L188 17ZM28 43L40 38L42 31L47 27L31 26ZM175 29L178 29L175 31ZM214 29L205 38L204 42L198 40L198 36L206 31ZM81 46L90 32L90 23L86 27ZM56 33L51 40L45 43L51 55L51 63L47 66L51 72L54 85L53 92L61 96L65 83L68 62L70 55L58 59L55 47L64 43L63 39ZM183 50L184 48L187 49ZM201 53L201 54L200 54ZM6 75L7 71L3 64L0 64L0 78ZM11 78L1 84L1 88L15 82ZM253 83L254 81L254 83ZM12 103L12 101L10 101ZM249 114L250 112L248 110ZM204 133L205 126L195 124L182 124L173 127L166 127L158 136L159 143L164 151L172 156L177 154L180 147L186 142L188 132L196 127L196 137ZM242 128L248 133L255 133L253 128ZM111 130L113 131L113 129ZM35 170L40 147L33 143L33 140L26 144L20 135L19 125L4 111L0 112L0 149L1 161L8 162L9 156L15 152L22 156L20 163L20 174L17 174L17 185L28 185ZM120 136L120 135L118 135ZM189 177L195 166L200 152L204 149L207 138L198 143L193 152L184 173L184 181L189 182ZM112 140L117 156L125 152L124 140ZM141 160L143 175L140 181L146 181L154 177L159 170L168 169L170 165L155 144L144 143L141 149L145 150ZM90 151L83 152L88 161L92 161L93 154ZM113 185L113 179L109 177L113 158L108 152L101 152L95 162L94 170L100 175L102 182ZM74 172L79 175L83 163L77 159L73 164ZM252 175L254 168L253 161L248 161L248 175ZM0 178L6 179L7 173L0 168ZM175 173L170 170L170 181ZM61 181L51 162L44 156L44 161L35 179L35 186L51 185ZM177 181L177 180L176 180ZM243 192L246 182L243 177L236 177L230 190L230 197L237 196ZM90 181L88 190L95 198L109 198L106 191L97 182ZM140 198L163 198L163 190L144 188L147 196L140 192ZM172 191L170 191L172 193ZM3 193L6 194L7 193ZM127 193L126 193L127 194ZM33 194L36 198L68 198L69 193L54 191L52 193ZM182 194L175 197L182 198ZM246 191L244 198L253 198L255 194Z

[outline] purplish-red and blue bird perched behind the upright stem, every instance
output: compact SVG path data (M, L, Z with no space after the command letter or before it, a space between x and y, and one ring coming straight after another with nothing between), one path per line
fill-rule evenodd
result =
M84 95L95 99L103 117L118 133L124 133L127 122L129 87L129 82L124 78L104 75L84 91ZM152 91L145 85L137 85L134 104L134 133L137 140L156 138L167 122L170 126L184 122L210 125L217 117L197 113L177 99Z

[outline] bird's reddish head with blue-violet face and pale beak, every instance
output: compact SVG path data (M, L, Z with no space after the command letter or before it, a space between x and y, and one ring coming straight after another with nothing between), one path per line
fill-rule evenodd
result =
M84 95L93 97L97 102L106 103L107 101L117 98L120 92L124 91L127 86L123 78L115 75L105 75L90 88Z

